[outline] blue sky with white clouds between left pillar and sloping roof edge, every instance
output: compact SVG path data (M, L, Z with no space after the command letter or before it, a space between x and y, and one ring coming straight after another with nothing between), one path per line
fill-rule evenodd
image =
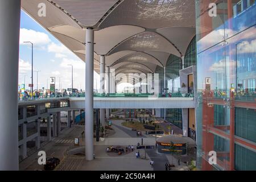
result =
M85 63L67 47L49 34L24 11L20 20L19 84L31 83L31 44L34 43L34 71L38 72L38 88L49 88L49 77L56 77L56 89L71 88L71 66L73 65L73 88L85 89ZM36 89L34 72L34 89ZM48 80L48 85L47 85ZM59 82L60 80L60 82ZM96 84L97 82L97 84ZM60 84L61 83L61 84ZM60 86L59 86L60 85ZM94 89L100 89L100 76L94 72Z

